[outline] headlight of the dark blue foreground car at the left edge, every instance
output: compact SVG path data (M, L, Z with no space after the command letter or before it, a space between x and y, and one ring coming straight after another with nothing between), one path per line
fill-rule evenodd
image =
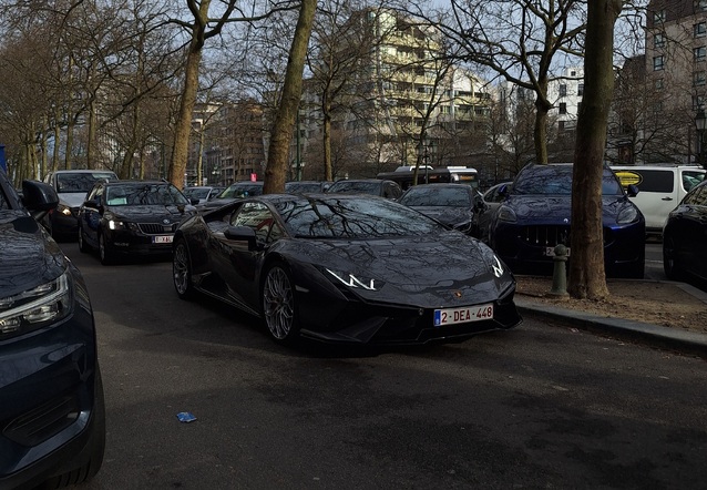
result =
M73 283L66 270L54 280L0 298L0 338L61 320L71 313L72 299Z

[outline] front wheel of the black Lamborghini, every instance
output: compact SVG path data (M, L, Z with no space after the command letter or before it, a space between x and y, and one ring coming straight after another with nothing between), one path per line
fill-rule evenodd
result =
M299 334L295 285L280 262L270 264L264 275L260 288L263 319L275 341L291 344Z

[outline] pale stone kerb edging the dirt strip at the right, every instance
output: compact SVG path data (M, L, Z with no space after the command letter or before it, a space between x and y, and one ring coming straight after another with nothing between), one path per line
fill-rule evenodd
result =
M652 283L660 284L660 282ZM707 305L707 293L688 284L673 283L673 285L677 285L685 293ZM551 306L534 299L532 296L518 293L515 295L515 305L521 315L525 317L555 321L577 329L606 334L612 337L676 350L682 354L696 355L707 359L707 335L704 334L666 328L625 318L608 318L561 306ZM707 324L707 317L703 321Z

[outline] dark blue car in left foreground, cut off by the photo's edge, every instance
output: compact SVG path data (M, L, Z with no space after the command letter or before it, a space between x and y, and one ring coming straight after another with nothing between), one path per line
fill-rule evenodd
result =
M0 488L61 488L103 461L95 324L81 273L35 220L55 191L24 181L22 195L0 170Z

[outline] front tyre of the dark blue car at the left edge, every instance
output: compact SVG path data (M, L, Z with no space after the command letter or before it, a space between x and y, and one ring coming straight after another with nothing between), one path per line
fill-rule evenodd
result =
M35 490L39 489L57 489L69 484L80 484L91 480L101 469L103 465L103 455L105 453L105 399L103 396L103 379L101 370L96 364L95 367L95 385L94 385L94 405L93 405L93 422L91 439L85 451L75 456L75 459L64 463L59 472L49 478Z

